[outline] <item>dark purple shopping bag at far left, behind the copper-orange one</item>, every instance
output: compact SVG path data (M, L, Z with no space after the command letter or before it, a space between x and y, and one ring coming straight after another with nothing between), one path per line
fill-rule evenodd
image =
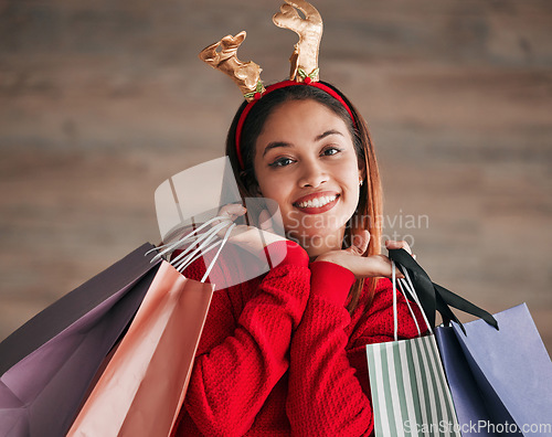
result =
M159 263L145 244L0 343L0 435L62 436Z

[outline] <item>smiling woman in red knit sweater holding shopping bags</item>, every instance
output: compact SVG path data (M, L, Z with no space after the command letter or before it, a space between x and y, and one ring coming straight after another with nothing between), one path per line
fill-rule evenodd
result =
M317 84L268 87L230 128L226 152L242 193L275 201L288 238L269 232L266 213L268 246L248 233L233 237L257 255L285 257L264 277L215 292L177 435L372 431L364 347L393 340L391 283L378 279L391 276L379 255L378 164L354 107ZM244 212L222 211L233 218ZM404 242L386 246L410 251ZM217 268L238 274L235 259ZM203 270L198 263L185 275ZM400 337L416 337L401 296L399 318Z

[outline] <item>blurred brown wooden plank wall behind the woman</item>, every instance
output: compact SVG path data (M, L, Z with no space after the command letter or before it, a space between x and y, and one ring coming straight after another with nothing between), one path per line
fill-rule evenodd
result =
M320 67L368 119L385 234L552 348L552 3L319 0ZM198 52L246 29L285 78L279 1L0 1L0 339L145 241L155 189L223 153L241 97ZM463 318L469 320L469 318Z

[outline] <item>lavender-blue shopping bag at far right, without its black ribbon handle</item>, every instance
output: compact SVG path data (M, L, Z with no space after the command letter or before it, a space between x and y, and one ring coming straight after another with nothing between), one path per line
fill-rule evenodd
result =
M437 328L463 435L552 435L552 363L527 306Z

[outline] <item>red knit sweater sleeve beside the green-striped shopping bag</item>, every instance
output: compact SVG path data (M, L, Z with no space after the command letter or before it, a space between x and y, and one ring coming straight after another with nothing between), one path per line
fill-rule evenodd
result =
M351 330L351 317L343 303L354 277L338 265L317 264L311 265L310 297L291 340L286 406L291 430L304 436L369 435L373 417L364 345L393 339L389 338L392 290L379 287L373 301L375 318L371 317L373 305L368 313L359 305ZM404 299L397 307L400 320L410 317ZM357 311L363 313L359 317ZM415 337L410 335L410 329L401 333Z

